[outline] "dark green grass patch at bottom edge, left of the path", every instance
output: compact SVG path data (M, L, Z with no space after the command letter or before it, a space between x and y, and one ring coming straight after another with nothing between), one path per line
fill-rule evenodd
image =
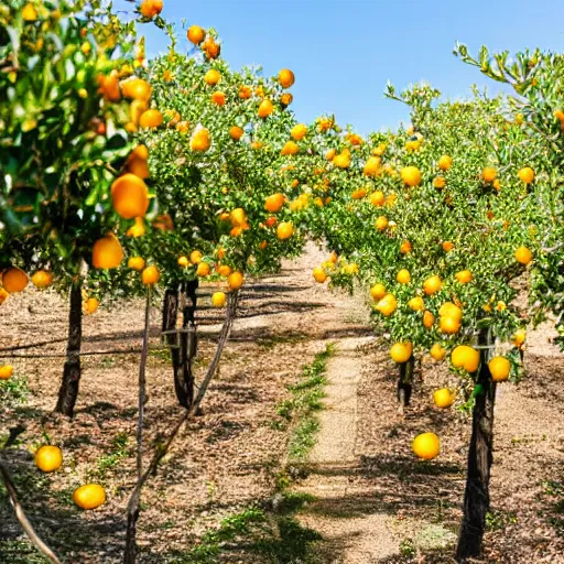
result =
M221 555L228 551L230 556L240 554L246 562L316 564L310 549L321 536L302 527L293 516L304 502L304 496L285 495L274 516L257 506L248 507L226 517L217 529L206 532L194 549L174 554L166 562L215 564L221 562Z

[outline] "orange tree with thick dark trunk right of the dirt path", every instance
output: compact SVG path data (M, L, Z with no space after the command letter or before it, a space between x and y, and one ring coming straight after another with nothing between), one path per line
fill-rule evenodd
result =
M540 147L520 120L507 119L502 98L476 93L433 106L438 93L425 85L399 96L389 86L388 95L411 106L411 130L325 141L335 191L321 208L321 235L340 256L314 274L370 288L375 323L404 375L417 351L437 361L449 354L459 403L473 410L464 560L481 551L496 382L518 377L518 348L502 345L524 339L514 281L541 252L544 217L530 169ZM446 394L438 403L453 403ZM434 436L413 446L423 458L438 454Z

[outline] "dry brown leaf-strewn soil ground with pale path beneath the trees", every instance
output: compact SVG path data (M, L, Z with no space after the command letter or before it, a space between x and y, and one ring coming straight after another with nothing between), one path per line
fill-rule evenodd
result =
M365 304L330 293L311 278L323 257L310 247L281 275L245 286L241 315L204 414L183 430L144 491L141 562L452 562L469 424L456 411L434 409L430 397L436 386L454 381L445 368L425 362L412 406L400 415L395 369L372 337ZM129 302L87 317L84 349L139 347L142 307ZM11 296L0 310L0 348L64 339L66 316L66 305L50 291ZM220 316L206 310L200 321L197 365L203 370ZM160 323L155 306L152 347L160 344ZM531 335L528 378L519 387L499 388L488 563L564 562L564 357L550 335L550 328ZM290 486L296 497L310 496L303 497L310 501L299 519L323 540L300 560L283 550L257 556L247 551L245 539L220 544L219 555L210 560L194 560L194 544L226 516L270 507L291 432L273 424L276 405L289 397L288 386L297 381L302 366L327 343L335 343L336 350L327 366L317 444L302 477ZM61 354L64 343L22 352ZM65 563L120 562L124 509L134 482L138 355L85 357L73 422L52 414L61 358L2 361L12 362L17 379L30 388L20 399L15 392L23 384L0 397L0 432L25 426L21 443L4 459L33 523ZM181 412L166 352L151 352L148 379L149 449ZM420 463L411 440L427 430L440 434L442 454ZM64 452L64 468L53 475L36 470L30 454L45 436ZM73 506L73 489L86 480L107 487L108 501L99 510L82 512ZM43 562L23 541L3 494L0 501L0 562Z

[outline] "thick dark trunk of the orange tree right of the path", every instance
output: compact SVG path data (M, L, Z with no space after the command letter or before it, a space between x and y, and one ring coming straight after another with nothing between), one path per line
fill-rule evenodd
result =
M481 332L478 343L490 345L487 332ZM464 564L467 558L481 556L481 542L486 530L486 513L489 511L489 478L494 459L494 403L496 382L488 368L488 351L481 349L481 365L476 382L477 393L471 422L471 438L468 452L464 516L456 547L456 560Z

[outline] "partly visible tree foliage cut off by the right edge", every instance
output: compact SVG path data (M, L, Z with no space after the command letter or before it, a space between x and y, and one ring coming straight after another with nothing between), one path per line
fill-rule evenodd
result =
M534 170L539 172L535 193L542 210L541 253L531 274L531 302L536 318L546 311L556 315L564 335L564 59L558 53L524 51L509 57L507 52L490 55L481 47L474 58L465 45L455 54L477 66L490 78L511 85L517 96L509 101L516 119L522 123L528 142L538 148ZM562 345L562 339L561 339Z

